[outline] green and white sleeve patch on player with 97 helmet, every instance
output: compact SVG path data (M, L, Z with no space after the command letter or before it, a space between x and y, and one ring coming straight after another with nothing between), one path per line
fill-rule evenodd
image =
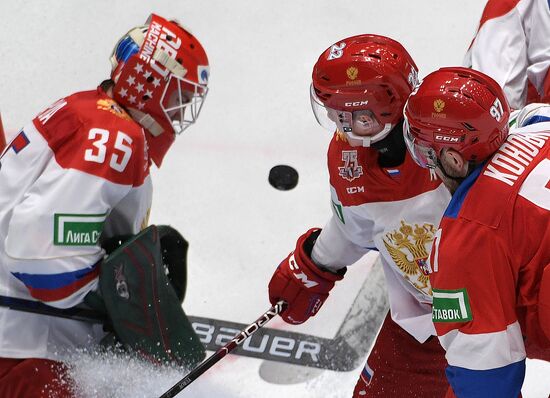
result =
M469 322L473 319L466 289L433 289L433 322Z

